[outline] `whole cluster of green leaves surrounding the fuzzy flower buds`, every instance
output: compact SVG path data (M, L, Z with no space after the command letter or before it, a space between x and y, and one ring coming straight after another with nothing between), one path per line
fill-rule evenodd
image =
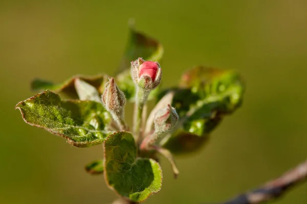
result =
M115 81L128 101L135 101L136 88L130 76L130 61L143 57L160 61L163 46L157 40L130 28L130 37ZM167 67L165 67L167 69ZM128 131L118 131L111 115L100 101L108 76L75 76L62 84L36 79L31 86L42 91L16 105L24 121L61 136L75 147L103 143L104 158L86 165L91 174L103 174L107 185L125 199L141 202L160 191L162 170L156 153L164 154L174 165L171 154L188 154L200 149L223 118L241 104L244 83L239 73L196 66L182 74L177 87L152 91L148 99L156 107L147 118L144 133L153 129L157 110L171 105L179 115L177 125L157 145L142 152ZM163 148L163 150L162 150ZM164 150L165 149L165 150Z

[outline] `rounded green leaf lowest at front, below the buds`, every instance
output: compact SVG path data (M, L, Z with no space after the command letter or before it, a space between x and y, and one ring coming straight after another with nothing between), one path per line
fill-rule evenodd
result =
M105 140L104 177L108 186L135 202L160 191L162 170L152 159L137 158L137 146L128 132L117 132Z

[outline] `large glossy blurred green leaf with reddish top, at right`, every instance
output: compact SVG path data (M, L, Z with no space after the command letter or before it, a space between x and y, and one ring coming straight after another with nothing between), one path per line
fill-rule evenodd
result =
M176 108L180 121L160 144L180 154L200 148L224 116L242 104L244 83L233 70L198 66L183 74L180 88L168 89L160 98L166 93L164 103Z

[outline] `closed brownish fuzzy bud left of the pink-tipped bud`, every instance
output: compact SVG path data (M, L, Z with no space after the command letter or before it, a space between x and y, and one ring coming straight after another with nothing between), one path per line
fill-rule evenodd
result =
M126 104L125 94L117 87L114 78L109 77L101 96L105 109L111 113L113 118L123 118L124 106Z

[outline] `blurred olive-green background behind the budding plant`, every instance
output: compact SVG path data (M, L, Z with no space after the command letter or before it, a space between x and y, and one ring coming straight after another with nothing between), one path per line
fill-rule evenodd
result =
M280 175L307 155L307 2L1 1L0 203L110 203L117 196L84 165L102 145L74 148L26 124L15 104L33 78L113 74L127 20L165 48L163 86L194 65L234 68L245 78L243 107L226 117L198 154L162 159L160 193L146 203L228 199ZM276 204L307 203L307 184Z

